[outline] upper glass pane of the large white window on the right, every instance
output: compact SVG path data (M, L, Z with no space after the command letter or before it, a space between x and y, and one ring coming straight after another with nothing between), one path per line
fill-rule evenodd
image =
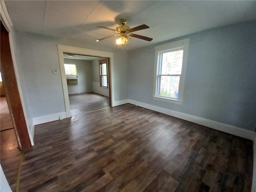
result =
M183 50L167 52L162 56L162 75L181 74Z

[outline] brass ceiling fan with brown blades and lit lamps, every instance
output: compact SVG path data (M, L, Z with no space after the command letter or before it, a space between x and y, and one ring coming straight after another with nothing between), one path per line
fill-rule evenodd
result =
M137 26L137 27L134 27L134 28L130 28L129 26L125 25L127 20L121 19L120 22L121 22L122 25L116 27L116 30L110 29L110 28L107 28L107 27L103 27L103 26L97 26L99 28L103 28L103 29L108 29L108 30L114 31L117 34L110 35L110 36L98 39L98 40L96 40L96 42L99 42L101 40L104 40L104 39L107 39L107 38L110 38L110 37L115 37L115 36L120 36L116 40L116 44L118 44L118 45L123 44L125 46L130 41L130 38L128 38L127 36L139 38L139 39L146 40L146 41L152 41L153 40L152 38L149 38L149 37L145 37L145 36L142 36L142 35L137 35L137 34L131 33L131 32L134 32L134 31L138 31L138 30L142 30L142 29L147 29L147 28L149 28L149 26L143 24L143 25L140 25L140 26Z

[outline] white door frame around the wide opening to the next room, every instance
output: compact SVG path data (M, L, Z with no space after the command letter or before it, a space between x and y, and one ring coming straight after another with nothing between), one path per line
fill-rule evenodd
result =
M111 91L111 102L113 105L114 95L115 95L114 94L114 53L86 49L86 48L65 46L65 45L57 45L57 46L58 46L58 52L59 52L59 58L60 58L60 72L61 72L61 78L62 78L62 86L63 86L67 118L71 117L71 112L70 112L70 103L68 98L68 85L66 81L66 74L65 74L65 68L64 68L64 57L63 57L64 52L68 52L72 54L87 55L87 56L110 58L110 78L111 78L110 91Z

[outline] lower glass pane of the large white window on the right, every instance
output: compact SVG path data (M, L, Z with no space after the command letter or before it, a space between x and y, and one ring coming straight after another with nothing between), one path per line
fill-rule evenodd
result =
M178 99L180 76L160 76L158 94Z

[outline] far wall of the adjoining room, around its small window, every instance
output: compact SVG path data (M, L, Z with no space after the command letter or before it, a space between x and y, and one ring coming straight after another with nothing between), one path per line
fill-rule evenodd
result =
M92 62L78 59L65 59L65 64L76 64L78 85L68 85L68 94L92 92Z

